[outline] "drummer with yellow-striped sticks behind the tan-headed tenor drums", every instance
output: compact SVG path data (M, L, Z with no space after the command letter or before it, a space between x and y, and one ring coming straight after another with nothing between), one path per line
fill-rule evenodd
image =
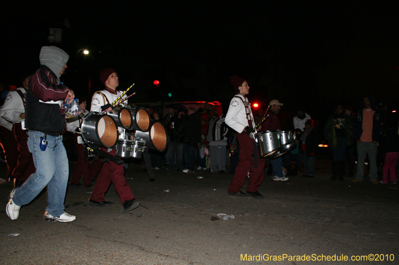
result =
M91 111L101 112L110 111L112 109L111 103L117 99L122 92L116 88L119 86L118 74L115 70L105 68L100 71L100 80L104 84L104 90L94 93L91 100ZM126 97L126 95L125 95ZM126 105L126 100L123 102ZM101 147L101 150L108 152L110 155L115 156L116 150L111 149L108 151L106 148ZM140 203L135 200L135 197L130 190L128 183L123 176L123 165L117 165L115 162L104 162L98 175L96 184L94 185L89 203L94 206L107 206L113 204L112 202L104 199L108 187L112 183L118 193L125 211L131 211L139 207Z

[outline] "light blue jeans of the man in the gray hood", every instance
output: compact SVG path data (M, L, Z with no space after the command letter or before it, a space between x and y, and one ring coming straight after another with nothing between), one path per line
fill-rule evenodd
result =
M47 213L60 216L65 211L64 200L69 177L69 164L61 136L47 135L47 148L40 150L44 133L29 131L28 147L36 172L17 188L12 201L22 206L31 202L48 185Z

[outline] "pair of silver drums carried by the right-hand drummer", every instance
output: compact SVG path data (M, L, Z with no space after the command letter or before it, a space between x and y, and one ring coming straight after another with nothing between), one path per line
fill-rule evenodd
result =
M296 148L295 133L270 130L254 134L261 158L276 159Z

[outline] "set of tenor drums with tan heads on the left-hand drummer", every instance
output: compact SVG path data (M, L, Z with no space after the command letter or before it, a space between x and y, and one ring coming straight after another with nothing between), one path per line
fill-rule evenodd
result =
M115 107L108 114L90 112L83 117L81 136L89 147L115 148L120 158L141 158L145 148L164 151L167 133L152 122L145 108Z

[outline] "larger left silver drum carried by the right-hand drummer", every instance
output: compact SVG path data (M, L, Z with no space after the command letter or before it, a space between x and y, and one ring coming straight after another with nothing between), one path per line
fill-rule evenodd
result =
M268 157L282 149L280 130L259 132L254 136L261 158Z

